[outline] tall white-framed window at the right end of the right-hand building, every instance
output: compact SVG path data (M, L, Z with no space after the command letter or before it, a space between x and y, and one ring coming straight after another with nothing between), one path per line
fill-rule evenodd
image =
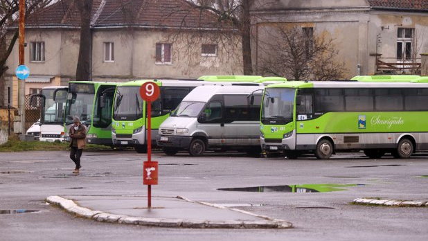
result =
M397 60L411 60L414 28L398 28L397 31Z

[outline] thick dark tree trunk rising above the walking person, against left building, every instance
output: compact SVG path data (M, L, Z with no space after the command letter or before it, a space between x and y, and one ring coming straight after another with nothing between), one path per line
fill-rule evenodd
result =
M92 0L75 0L80 12L80 45L75 79L91 80L91 10Z

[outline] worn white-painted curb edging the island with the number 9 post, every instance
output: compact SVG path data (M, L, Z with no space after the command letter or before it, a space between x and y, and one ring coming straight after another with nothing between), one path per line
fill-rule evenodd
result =
M185 200L186 202L193 202L186 197L177 197ZM290 222L284 220L276 220L267 216L256 215L246 211L241 211L235 208L225 208L216 206L215 204L193 202L213 206L216 208L229 209L231 211L240 211L248 215L261 217L265 220L260 221L242 221L242 220L224 220L211 222L208 220L186 220L186 219L161 219L151 217L133 217L127 215L114 215L112 213L105 213L102 211L93 211L88 208L83 208L75 204L70 199L65 199L60 196L50 196L46 198L46 202L56 206L60 206L69 213L86 217L88 219L96 220L99 222L110 222L119 224L134 224L142 226L157 226L163 228L191 228L191 229L288 229L292 227Z

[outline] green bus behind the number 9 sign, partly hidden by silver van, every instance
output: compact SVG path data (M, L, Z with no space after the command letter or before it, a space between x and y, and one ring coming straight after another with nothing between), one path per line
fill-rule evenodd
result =
M143 118L146 116L146 104L141 99L139 89L147 81L156 82L161 90L159 98L152 102L152 143L156 145L159 125L195 87L206 84L265 85L287 80L253 75L206 75L198 80L135 80L118 84L112 115L113 145L134 147L139 153L146 152L146 118Z

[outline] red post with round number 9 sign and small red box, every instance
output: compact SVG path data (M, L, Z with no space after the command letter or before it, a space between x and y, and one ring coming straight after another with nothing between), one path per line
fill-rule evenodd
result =
M158 165L152 161L152 101L159 97L155 82L145 82L140 87L140 96L147 105L147 161L143 163L143 185L148 185L148 208L152 207L152 185L157 185Z

